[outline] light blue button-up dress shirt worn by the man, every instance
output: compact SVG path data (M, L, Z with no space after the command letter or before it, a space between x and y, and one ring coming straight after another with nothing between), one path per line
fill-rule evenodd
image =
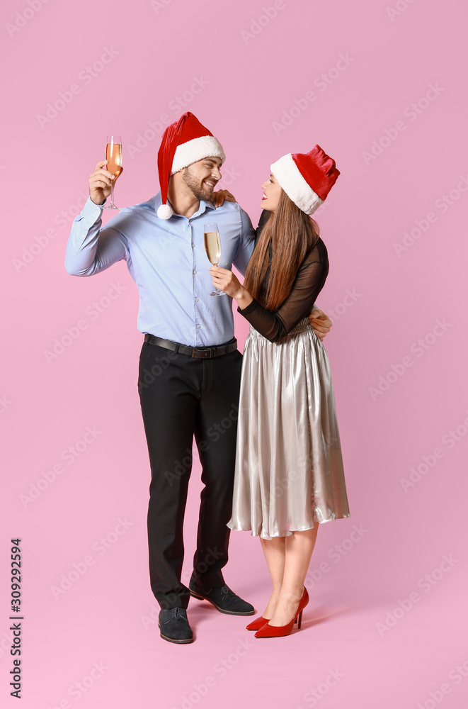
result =
M230 296L214 289L203 242L203 224L216 222L221 237L219 266L232 264L242 275L251 257L255 231L236 202L215 208L200 200L190 218L159 219L161 192L125 207L101 229L103 206L89 198L73 220L65 268L74 276L92 276L125 259L139 291L137 328L190 347L222 345L234 337Z

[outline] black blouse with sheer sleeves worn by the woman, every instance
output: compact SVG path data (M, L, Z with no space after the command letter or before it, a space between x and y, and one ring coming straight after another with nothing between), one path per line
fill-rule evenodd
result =
M256 241L270 216L271 212L264 209L258 222ZM290 294L277 311L268 311L255 298L244 310L237 308L237 311L267 340L279 342L301 320L309 316L328 273L328 253L324 242L319 238L299 266Z

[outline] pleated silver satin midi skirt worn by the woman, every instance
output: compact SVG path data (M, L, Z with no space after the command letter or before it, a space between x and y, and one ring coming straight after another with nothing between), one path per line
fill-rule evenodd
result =
M349 516L324 345L308 318L280 342L269 342L251 326L227 526L270 539Z

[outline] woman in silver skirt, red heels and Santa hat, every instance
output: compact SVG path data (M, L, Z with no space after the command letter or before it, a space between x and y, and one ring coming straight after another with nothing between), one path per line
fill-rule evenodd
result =
M289 635L309 601L304 580L319 523L350 516L329 359L308 314L329 262L310 218L339 175L316 145L271 165L244 285L212 267L213 284L249 320L244 350L232 530L261 538L273 583L248 630Z

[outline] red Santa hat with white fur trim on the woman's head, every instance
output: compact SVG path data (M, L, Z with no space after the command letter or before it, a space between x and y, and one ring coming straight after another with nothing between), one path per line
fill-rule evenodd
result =
M271 173L287 196L306 214L324 203L340 171L319 145L310 152L288 153L273 162Z

